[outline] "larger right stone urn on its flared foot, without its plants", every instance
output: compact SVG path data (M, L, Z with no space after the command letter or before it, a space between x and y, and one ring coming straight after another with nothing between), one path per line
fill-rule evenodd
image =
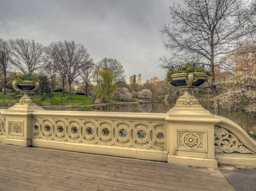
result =
M207 83L207 74L202 72L195 73L177 73L172 74L172 83L173 88L180 88L184 90L184 94L179 97L177 103L183 102L186 107L191 107L193 104L199 105L198 100L191 94L189 90L193 88L202 88L206 86Z

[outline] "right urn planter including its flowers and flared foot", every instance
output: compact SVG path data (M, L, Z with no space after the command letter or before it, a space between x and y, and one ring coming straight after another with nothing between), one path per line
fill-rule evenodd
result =
M205 64L186 64L180 66L168 67L166 81L171 84L173 88L180 88L184 90L184 94L179 97L177 103L183 103L190 108L193 104L199 105L198 100L191 94L189 90L193 88L202 88L207 86L207 79L210 75L209 70Z

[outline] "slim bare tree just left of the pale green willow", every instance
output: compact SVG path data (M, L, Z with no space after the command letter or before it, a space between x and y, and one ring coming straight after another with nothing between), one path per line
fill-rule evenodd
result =
M93 63L93 59L91 58L90 60L82 64L80 73L79 73L79 76L84 82L85 96L88 96L88 87L93 80L93 73L94 73L94 63Z

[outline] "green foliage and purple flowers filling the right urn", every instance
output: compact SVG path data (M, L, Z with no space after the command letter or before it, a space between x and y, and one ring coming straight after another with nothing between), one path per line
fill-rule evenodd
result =
M172 74L177 73L195 73L195 72L202 72L207 74L208 76L212 76L211 72L207 68L208 64L199 64L199 63L186 63L184 65L174 65L168 66L168 72L166 77L166 82L172 83Z

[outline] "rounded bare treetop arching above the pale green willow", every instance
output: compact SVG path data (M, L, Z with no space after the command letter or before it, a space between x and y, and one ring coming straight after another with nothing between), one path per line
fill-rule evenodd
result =
M115 82L124 80L125 69L122 64L114 58L103 58L96 65L97 70L107 69L115 77Z

